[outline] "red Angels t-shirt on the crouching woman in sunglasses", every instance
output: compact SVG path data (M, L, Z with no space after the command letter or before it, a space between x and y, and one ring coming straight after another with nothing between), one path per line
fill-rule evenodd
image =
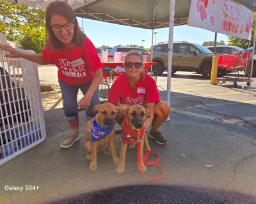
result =
M137 82L135 89L132 89L129 84L127 74L122 74L116 78L108 96L108 102L116 106L120 105L120 103L145 105L145 103L156 103L158 101L160 99L156 82L145 72Z

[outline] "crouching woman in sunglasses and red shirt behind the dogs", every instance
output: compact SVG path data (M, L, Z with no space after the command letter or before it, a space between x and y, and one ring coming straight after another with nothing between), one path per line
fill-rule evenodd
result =
M143 71L143 56L137 50L131 50L124 59L124 69L120 77L116 78L111 86L108 102L119 106L121 110L131 105L145 106L150 111L150 117L145 122L149 129L148 136L161 145L166 145L166 138L158 131L161 124L167 119L170 106L166 101L160 101L155 80ZM116 121L122 124L125 115L118 113Z

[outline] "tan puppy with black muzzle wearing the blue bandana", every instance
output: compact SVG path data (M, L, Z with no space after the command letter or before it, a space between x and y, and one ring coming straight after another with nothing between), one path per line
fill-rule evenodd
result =
M115 116L116 112L120 112L120 108L111 103L104 103L93 107L93 111L97 111L93 120L92 132L87 133L84 141L84 149L87 152L86 159L91 160L90 170L97 170L97 152L101 151L105 154L111 154L113 161L117 166L119 163L116 154L115 142ZM111 147L111 153L108 147Z

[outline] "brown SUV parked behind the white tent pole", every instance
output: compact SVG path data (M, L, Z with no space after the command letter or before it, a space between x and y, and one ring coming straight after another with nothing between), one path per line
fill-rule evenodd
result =
M151 48L150 48L151 50ZM187 41L173 41L172 73L176 71L196 71L202 73L203 77L211 77L212 56L211 50L196 43ZM151 61L151 55L148 55L147 61ZM168 68L168 42L158 43L153 46L152 66L155 75L161 75ZM218 77L226 74L225 69L218 69Z

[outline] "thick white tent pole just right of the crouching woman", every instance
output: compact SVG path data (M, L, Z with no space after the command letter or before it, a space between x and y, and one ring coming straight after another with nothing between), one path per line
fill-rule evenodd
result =
M168 69L167 69L167 103L171 105L171 78L172 78L172 54L173 54L173 27L174 27L175 0L170 0L169 43L168 43ZM168 119L170 120L170 115Z

